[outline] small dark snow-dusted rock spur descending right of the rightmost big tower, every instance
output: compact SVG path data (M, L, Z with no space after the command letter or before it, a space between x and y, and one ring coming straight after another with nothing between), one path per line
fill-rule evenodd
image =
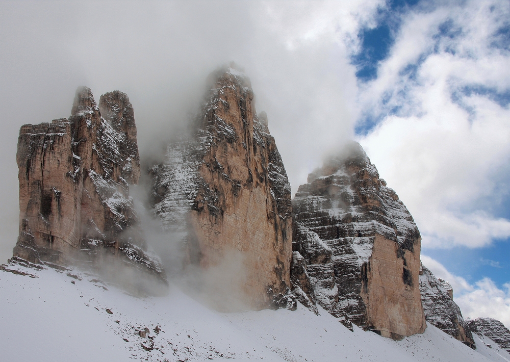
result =
M453 301L453 289L445 280L437 279L423 264L420 271L423 312L428 323L475 349L475 342L461 309Z

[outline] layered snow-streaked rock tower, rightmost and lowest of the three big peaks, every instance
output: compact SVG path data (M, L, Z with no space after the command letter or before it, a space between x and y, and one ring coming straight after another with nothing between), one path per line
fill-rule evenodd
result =
M420 232L358 143L308 176L293 216L292 248L326 311L394 339L425 330Z

